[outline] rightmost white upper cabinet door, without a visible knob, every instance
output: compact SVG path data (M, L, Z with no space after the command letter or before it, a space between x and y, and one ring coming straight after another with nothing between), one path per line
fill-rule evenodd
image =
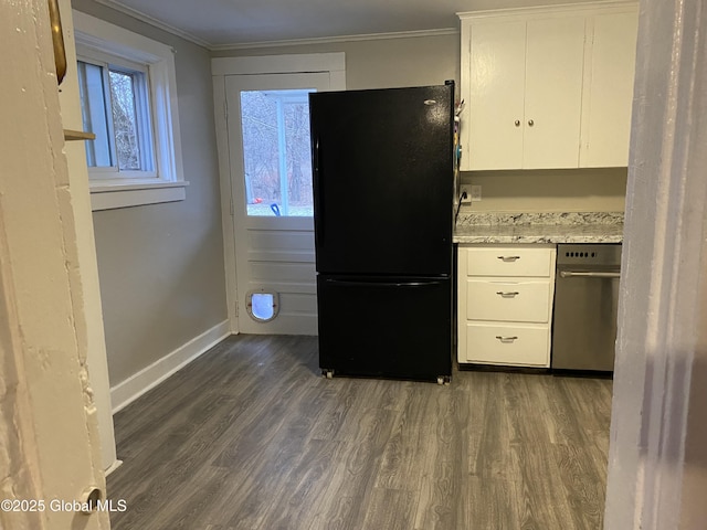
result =
M593 42L583 108L583 168L629 163L637 10L593 17Z

